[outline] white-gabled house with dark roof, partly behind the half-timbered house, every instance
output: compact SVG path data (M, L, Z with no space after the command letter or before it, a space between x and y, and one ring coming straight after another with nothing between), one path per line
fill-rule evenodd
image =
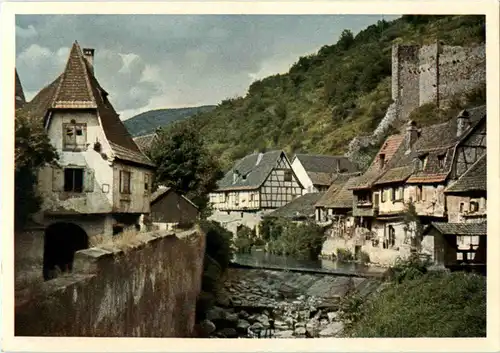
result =
M325 192L337 175L357 171L347 157L311 154L296 154L292 169L304 186L304 193Z

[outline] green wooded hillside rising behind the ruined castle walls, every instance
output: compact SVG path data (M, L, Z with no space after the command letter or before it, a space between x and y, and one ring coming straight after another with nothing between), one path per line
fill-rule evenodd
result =
M222 101L193 121L223 167L256 149L288 153L345 152L371 133L391 103L395 43L470 45L484 42L484 16L403 16L301 57L286 74L250 85L245 97Z

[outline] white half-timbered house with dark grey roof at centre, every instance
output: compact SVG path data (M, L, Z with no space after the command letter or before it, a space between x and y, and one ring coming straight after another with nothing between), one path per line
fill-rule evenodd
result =
M233 233L239 225L258 232L262 216L302 195L302 190L284 151L253 153L238 160L209 195L210 219Z

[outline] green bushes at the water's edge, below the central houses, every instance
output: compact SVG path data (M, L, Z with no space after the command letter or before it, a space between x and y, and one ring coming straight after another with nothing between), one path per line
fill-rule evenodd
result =
M263 238L268 252L296 258L317 259L325 241L323 228L314 222L294 223L286 219L268 219Z

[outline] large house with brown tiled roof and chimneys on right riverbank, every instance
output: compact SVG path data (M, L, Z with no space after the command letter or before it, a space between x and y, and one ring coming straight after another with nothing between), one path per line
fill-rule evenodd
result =
M457 168L463 170L461 146L474 150L467 153L468 163L485 152L485 139L476 136L485 135L485 114L485 107L481 106L421 129L408 122L404 134L386 141L386 145L400 141L397 147L393 146L392 158L385 162L387 153L383 147L374 161L379 164L379 171L372 165L364 176L369 182L354 189L353 214L359 218L356 223L371 232L371 246L367 244L363 250L382 263L408 256L417 249L435 258L434 239L418 239L421 235L417 234L416 223L408 220L408 204L413 204L414 216L423 226L447 221L444 190L458 176Z

